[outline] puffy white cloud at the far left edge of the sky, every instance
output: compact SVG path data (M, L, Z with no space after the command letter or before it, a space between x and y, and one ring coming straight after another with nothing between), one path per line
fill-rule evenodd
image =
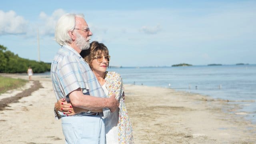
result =
M28 22L22 16L17 16L12 10L0 10L0 35L25 34L27 28Z

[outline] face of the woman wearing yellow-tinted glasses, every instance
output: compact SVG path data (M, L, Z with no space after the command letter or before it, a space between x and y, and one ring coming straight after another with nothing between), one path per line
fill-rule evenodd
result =
M92 60L92 71L98 74L105 73L108 68L108 59L104 54L97 55L97 56L103 56L103 60L102 62L98 62L98 61L101 61L100 58L98 58L98 60L97 58L94 58Z

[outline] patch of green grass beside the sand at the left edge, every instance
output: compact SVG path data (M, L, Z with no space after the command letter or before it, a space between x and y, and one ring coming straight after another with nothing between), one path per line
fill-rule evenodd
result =
M28 82L28 80L0 76L0 94L6 92L8 90L12 90L14 88L24 86L26 84L26 82Z

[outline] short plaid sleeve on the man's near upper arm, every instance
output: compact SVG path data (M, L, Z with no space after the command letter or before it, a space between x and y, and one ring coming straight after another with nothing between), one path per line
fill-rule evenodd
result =
M75 56L65 56L58 63L57 70L65 96L78 88L86 88L82 68Z

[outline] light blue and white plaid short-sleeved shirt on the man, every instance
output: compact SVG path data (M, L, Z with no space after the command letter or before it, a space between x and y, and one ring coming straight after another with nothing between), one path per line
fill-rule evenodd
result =
M100 83L84 59L70 46L64 45L52 61L51 66L52 86L57 100L65 98L70 101L68 94L78 88L86 95L106 98ZM65 116L62 112L58 114ZM82 112L75 116L91 115ZM110 114L108 108L103 108L106 118Z

